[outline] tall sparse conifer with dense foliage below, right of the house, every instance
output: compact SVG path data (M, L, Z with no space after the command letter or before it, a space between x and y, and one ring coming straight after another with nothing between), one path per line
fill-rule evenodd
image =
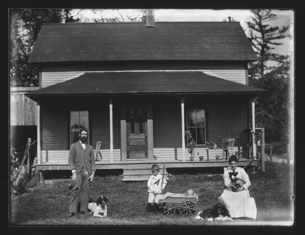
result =
M271 27L276 20L271 10L251 10L253 22L247 22L248 39L257 53L258 61L249 63L249 85L265 89L264 95L256 98L255 119L257 126L265 128L266 141L278 141L286 137L288 128L289 56L279 55L272 49L283 43L279 39L288 36L288 27ZM277 65L267 66L267 61Z

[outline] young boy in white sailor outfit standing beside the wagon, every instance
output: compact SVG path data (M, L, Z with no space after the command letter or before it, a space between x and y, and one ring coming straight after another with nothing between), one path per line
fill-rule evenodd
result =
M152 175L149 176L149 179L147 181L147 187L148 187L148 203L146 206L146 211L150 212L154 210L154 212L158 209L158 200L161 195L161 191L165 188L165 185L167 184L167 181L163 178L162 181L162 175L159 174L160 168L157 164L153 164L151 167ZM152 203L154 203L152 208Z

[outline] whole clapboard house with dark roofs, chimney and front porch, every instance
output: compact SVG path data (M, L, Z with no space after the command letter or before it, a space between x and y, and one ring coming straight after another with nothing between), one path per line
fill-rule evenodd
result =
M123 180L147 180L139 172L153 163L228 166L222 149L207 159L206 141L235 138L236 151L249 140L249 103L264 93L248 85L256 60L239 22L43 24L28 61L40 89L26 94L37 101L36 168L69 169L83 127L93 148L101 141L97 169L123 169ZM202 162L190 161L186 130Z

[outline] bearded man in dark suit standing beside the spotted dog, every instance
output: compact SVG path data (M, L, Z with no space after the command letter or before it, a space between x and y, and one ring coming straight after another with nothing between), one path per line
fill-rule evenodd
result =
M78 198L81 190L81 209L80 212L85 214L89 203L89 183L95 175L95 159L93 147L87 142L88 130L79 131L79 141L71 144L69 152L69 168L72 172L72 180L76 183L69 184L72 190L68 218L76 215Z

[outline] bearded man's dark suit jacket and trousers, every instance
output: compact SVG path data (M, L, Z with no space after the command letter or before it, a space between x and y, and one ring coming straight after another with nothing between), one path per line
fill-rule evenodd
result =
M72 191L70 199L69 212L77 213L77 204L79 198L79 192L81 190L81 209L80 212L86 212L89 203L89 176L95 169L95 159L93 147L86 143L86 148L81 146L80 141L71 144L69 158L69 168L72 171L76 170L76 190Z

